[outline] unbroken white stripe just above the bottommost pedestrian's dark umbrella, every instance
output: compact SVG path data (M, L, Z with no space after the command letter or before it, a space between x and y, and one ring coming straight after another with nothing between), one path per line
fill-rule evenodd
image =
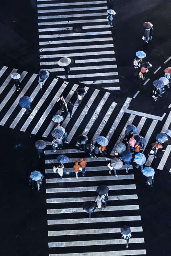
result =
M86 214L86 212L85 212ZM108 218L84 218L84 219L66 219L66 220L48 220L48 225L61 224L79 224L79 223L98 223L98 222L127 222L141 220L141 216L120 216Z

